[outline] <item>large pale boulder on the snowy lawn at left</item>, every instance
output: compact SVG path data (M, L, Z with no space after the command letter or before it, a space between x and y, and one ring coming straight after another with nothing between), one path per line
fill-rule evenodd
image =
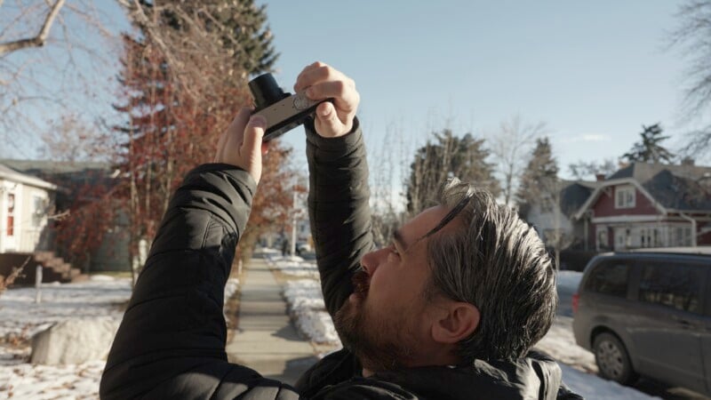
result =
M114 340L116 318L69 319L32 336L32 364L82 364L103 360Z

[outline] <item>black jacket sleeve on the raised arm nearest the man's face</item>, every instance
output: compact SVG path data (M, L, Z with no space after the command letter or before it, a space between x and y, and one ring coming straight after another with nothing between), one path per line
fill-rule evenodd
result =
M305 126L311 234L326 309L333 316L353 292L351 276L373 246L368 164L357 119L340 138L322 138L313 121Z

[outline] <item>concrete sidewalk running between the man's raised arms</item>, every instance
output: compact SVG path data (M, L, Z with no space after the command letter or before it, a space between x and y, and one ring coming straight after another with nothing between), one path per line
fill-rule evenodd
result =
M314 348L293 327L282 288L267 261L255 255L242 279L238 328L227 345L228 358L265 377L293 384L316 363Z

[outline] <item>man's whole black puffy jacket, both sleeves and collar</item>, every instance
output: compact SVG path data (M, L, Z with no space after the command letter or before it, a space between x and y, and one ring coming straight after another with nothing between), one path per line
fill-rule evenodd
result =
M329 312L352 291L372 247L367 165L357 127L326 140L307 127L309 211ZM579 398L545 356L462 368L423 367L363 378L341 350L296 388L263 378L225 354L224 286L249 217L255 184L227 164L205 164L173 195L135 286L100 384L104 399L554 399Z

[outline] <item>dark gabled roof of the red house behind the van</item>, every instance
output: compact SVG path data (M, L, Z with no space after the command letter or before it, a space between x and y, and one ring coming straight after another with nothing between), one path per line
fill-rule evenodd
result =
M663 212L711 212L711 167L634 163L600 182L600 188L633 183ZM595 203L600 189L577 212Z

